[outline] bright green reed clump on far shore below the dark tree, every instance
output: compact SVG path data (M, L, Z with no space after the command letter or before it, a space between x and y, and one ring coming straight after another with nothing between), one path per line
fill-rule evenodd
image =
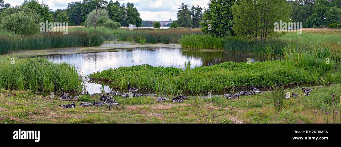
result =
M179 39L179 44L187 48L224 49L224 38L210 35L187 35Z

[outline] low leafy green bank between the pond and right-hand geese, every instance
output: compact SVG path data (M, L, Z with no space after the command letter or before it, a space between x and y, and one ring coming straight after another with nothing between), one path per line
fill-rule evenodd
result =
M298 56L296 58L296 56ZM93 79L112 82L116 88L127 83L139 89L168 94L182 92L232 91L235 88L273 85L340 83L340 66L317 57L288 54L282 61L255 63L225 62L213 66L181 69L140 65L108 69L89 75ZM308 64L306 64L308 63ZM157 68L157 70L155 69Z

